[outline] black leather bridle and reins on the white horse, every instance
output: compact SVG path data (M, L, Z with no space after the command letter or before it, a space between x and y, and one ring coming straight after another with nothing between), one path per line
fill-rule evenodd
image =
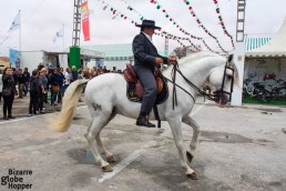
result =
M167 78L165 78L165 77L163 76L163 78L164 78L166 81L173 83L173 110L174 110L175 105L177 105L176 87L180 88L181 90L183 90L184 92L186 92L186 93L193 99L193 101L195 102L195 98L194 98L188 91L186 91L184 88L182 88L181 86L178 86L178 84L176 83L176 73L181 74L181 77L185 80L185 82L186 82L190 87L192 87L193 89L195 89L200 94L204 96L204 97L207 98L208 100L213 100L213 101L219 100L219 101L221 101L221 99L223 98L223 94L225 93L225 94L229 94L229 101L231 101L231 100L232 100L232 92L233 92L233 83L234 83L234 68L229 67L228 64L229 64L229 62L226 61L225 67L224 67L224 76L223 76L223 82L222 82L222 88L221 88L221 90L217 90L217 91L215 91L214 93L210 94L210 93L206 93L205 91L203 91L201 88L196 87L192 81L190 81L190 80L182 73L182 71L180 70L177 61L175 61L175 62L173 63L173 69L172 69L172 74L171 74L171 76L172 76L172 80L170 80L170 79L167 79ZM229 76L229 78L231 78L231 80L232 80L232 82L231 82L231 92L227 92L227 91L224 90L225 79L226 79L226 76L228 76L228 74L226 73L227 69L233 72L233 74Z

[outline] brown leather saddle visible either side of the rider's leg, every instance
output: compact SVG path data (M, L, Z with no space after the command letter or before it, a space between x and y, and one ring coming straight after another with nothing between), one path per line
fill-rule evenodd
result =
M164 80L161 76L161 71L159 69L155 68L154 72L153 72L155 80L156 80L156 84L157 84L157 94L160 94L163 91L164 88ZM140 82L136 72L134 71L134 68L132 64L126 64L126 69L123 71L123 76L124 79L130 83L130 86L133 86L133 91L127 92L127 94L130 94L130 97L133 98L133 100L135 98L142 100L143 93L144 93L144 88L142 86L142 83ZM130 98L129 97L129 98ZM131 101L133 101L131 100Z

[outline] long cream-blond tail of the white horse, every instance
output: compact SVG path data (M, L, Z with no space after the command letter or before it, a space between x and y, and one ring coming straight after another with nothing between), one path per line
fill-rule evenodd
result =
M85 79L75 80L68 87L63 97L62 110L57 119L52 120L51 128L53 130L64 132L70 128L73 114L79 103L79 99L88 81L89 80Z

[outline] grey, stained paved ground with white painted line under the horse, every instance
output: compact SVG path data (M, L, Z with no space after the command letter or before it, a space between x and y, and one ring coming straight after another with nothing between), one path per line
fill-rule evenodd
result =
M286 190L285 107L218 108L198 98L201 137L191 163L198 180L188 180L166 122L159 133L118 115L102 132L116 159L103 173L83 137L91 121L84 102L65 133L48 128L60 105L29 118L28 102L16 100L17 119L0 120L0 190ZM183 125L186 147L192 133Z

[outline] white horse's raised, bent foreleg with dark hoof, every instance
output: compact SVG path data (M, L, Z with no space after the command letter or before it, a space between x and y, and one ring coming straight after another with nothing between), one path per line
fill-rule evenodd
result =
M191 144L190 144L191 150L186 151L187 160L190 162L192 162L192 160L194 158L194 152L195 152L195 149L196 149L197 138L198 138L198 134L200 134L200 125L190 115L183 118L183 122L191 125L194 130L193 138L192 138Z

